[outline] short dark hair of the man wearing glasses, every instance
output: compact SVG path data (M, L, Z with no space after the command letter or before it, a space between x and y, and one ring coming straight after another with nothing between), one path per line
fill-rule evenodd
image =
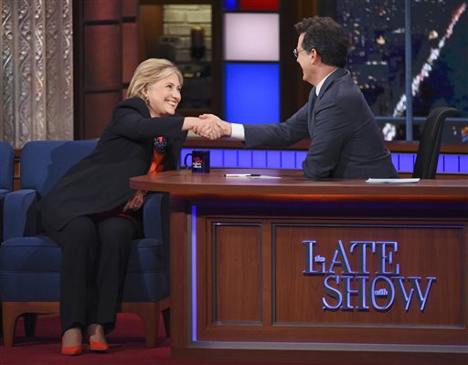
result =
M325 65L344 68L346 66L349 38L342 26L328 16L303 18L295 26L303 37L303 49L310 52L315 48Z

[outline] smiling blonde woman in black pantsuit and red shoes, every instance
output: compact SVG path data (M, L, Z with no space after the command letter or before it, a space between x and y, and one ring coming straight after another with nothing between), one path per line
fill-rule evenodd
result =
M136 68L127 99L89 156L78 162L37 204L42 225L60 246L61 353L107 351L115 327L131 242L141 235L144 192L129 179L178 167L187 130L206 122L175 115L182 74L165 59ZM210 138L218 138L211 129Z

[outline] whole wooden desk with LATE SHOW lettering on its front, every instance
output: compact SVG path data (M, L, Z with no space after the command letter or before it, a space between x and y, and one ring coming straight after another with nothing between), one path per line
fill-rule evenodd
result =
M466 363L467 180L223 169L131 186L170 193L175 358Z

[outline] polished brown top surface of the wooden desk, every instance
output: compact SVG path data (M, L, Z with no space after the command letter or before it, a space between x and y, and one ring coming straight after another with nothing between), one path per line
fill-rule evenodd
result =
M261 177L226 177L225 174L260 174ZM303 177L302 171L283 169L211 169L209 173L170 171L134 177L130 185L133 189L180 196L425 196L442 199L452 197L468 202L468 179L366 183L364 179L311 180Z

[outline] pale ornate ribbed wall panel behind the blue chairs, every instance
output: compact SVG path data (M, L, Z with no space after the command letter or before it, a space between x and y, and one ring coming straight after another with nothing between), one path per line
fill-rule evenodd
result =
M71 0L2 0L0 140L73 139Z

